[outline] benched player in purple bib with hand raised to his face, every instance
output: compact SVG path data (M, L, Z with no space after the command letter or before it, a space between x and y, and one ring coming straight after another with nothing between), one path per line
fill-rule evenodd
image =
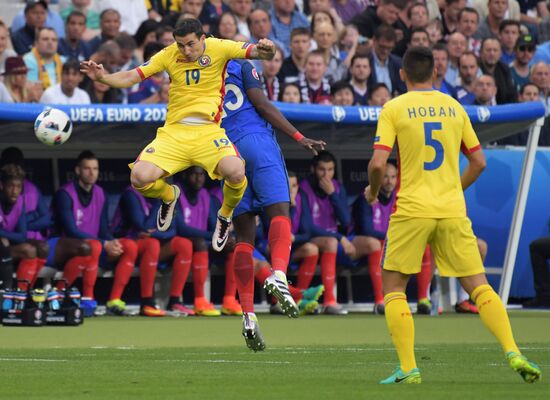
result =
M321 151L313 158L312 174L300 183L312 215L311 242L321 253L321 279L325 286L323 312L325 314L347 314L334 295L336 278L336 253L338 244L345 254L353 256L355 246L338 232L338 224L347 229L351 215L347 205L347 195L335 176L336 159L328 151ZM309 284L309 283L308 283Z

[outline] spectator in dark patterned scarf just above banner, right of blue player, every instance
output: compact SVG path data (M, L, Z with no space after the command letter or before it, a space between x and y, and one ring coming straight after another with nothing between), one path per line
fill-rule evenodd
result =
M324 78L326 69L322 51L313 50L307 55L305 70L298 78L304 103L330 104L330 84Z

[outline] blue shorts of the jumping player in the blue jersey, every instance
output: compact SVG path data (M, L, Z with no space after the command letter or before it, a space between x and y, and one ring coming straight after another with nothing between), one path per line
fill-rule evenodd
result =
M275 134L251 134L234 143L246 162L248 187L234 216L290 202L288 173Z

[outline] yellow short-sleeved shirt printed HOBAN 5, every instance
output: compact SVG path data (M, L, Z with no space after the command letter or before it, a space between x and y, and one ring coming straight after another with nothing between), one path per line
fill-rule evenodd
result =
M374 148L397 144L399 181L395 215L466 216L459 154L480 148L468 114L437 90L412 91L384 105Z

